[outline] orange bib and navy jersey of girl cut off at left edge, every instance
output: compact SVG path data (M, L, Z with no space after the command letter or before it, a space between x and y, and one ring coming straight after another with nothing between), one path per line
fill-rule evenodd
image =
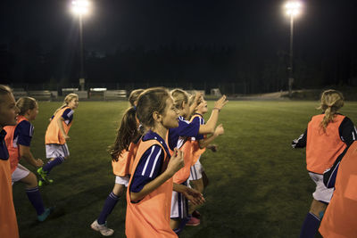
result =
M0 237L19 237L15 208L12 201L12 178L9 152L4 137L0 132Z

